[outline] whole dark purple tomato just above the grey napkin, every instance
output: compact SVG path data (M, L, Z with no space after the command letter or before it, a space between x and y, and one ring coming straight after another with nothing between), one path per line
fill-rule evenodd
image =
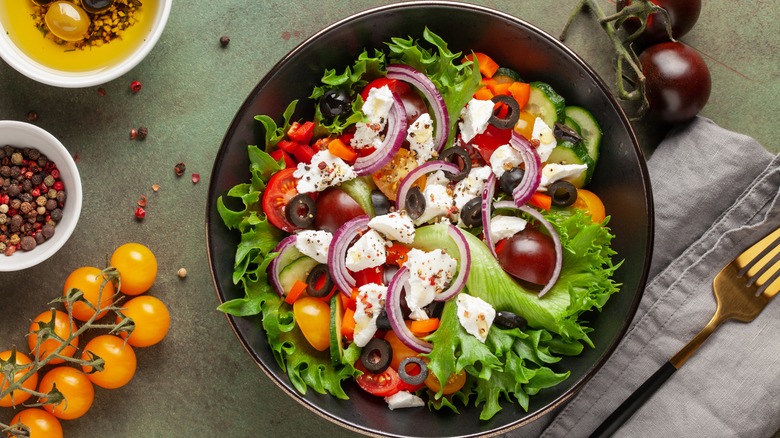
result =
M665 122L689 120L710 97L712 79L699 52L680 42L648 47L639 62L650 111Z

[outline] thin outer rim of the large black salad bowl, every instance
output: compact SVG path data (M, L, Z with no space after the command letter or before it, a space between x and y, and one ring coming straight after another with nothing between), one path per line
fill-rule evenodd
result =
M541 30L540 28L528 23L527 21L518 18L516 16L498 11L496 9L492 9L485 6L480 5L474 5L469 3L461 3L461 2L453 2L453 1L412 1L412 2L405 2L405 3L397 3L397 4L391 4L391 5L384 5L384 6L378 6L366 9L361 12L357 12L355 14L352 14L346 18L343 18L339 21L334 22L333 24L321 29L320 31L314 33L306 40L302 41L300 44L298 44L295 48L293 48L290 52L288 52L282 59L280 59L276 64L271 67L266 75L258 82L258 84L253 88L253 90L250 92L250 94L247 96L247 98L242 103L241 107L236 111L235 116L231 120L230 126L228 127L228 130L225 133L225 136L223 137L223 142L220 145L220 149L217 151L217 158L214 161L214 165L212 167L212 175L216 172L216 170L220 167L222 158L224 157L223 151L228 147L227 139L230 138L235 130L237 129L238 121L242 114L246 110L249 109L251 106L252 101L257 97L257 95L260 93L260 90L265 86L266 82L268 82L272 76L271 73L274 71L282 68L287 62L290 60L290 58L294 57L299 51L301 51L305 46L310 44L311 42L317 40L321 36L331 32L332 30L339 28L353 20L362 18L364 16L368 15L374 15L374 14L381 14L383 12L393 11L397 9L407 9L407 8L416 8L416 7L425 7L425 6L443 6L443 7L452 7L452 8L460 8L460 9L467 9L467 10L473 10L477 12L482 13L489 13L497 15L498 17L505 19L507 21L511 21L519 26L525 27L528 31L534 32L541 36L544 39L550 40L553 44L555 44L560 50L564 51L568 56L570 56L572 59L574 59L576 62L580 63L581 67L588 73L588 75L594 80L595 84L599 87L599 89L607 96L609 103L614 107L616 112L618 113L621 122L623 126L626 128L629 138L631 139L631 145L634 148L634 152L637 154L637 157L639 158L638 163L640 167L640 173L642 176L642 183L645 189L646 197L645 197L645 208L648 211L648 229L647 229L647 236L646 236L646 247L647 247L647 253L645 258L645 263L642 267L642 274L640 276L639 282L637 283L637 290L638 293L634 296L633 301L631 302L631 306L629 308L628 316L629 318L626 319L625 323L623 324L623 327L619 331L619 336L617 336L612 343L607 347L605 350L605 354L601 357L599 361L594 363L588 373L579 381L577 384L575 384L567 393L564 393L562 396L560 396L558 399L554 400L549 405L543 407L542 409L539 409L537 412L534 412L526 417L522 417L518 419L517 421L513 423L509 423L507 425L504 425L502 427L499 427L497 429L494 429L492 431L488 431L486 433L480 433L475 435L467 435L467 436L496 436L499 434L503 434L506 432L509 432L511 430L514 430L516 428L528 425L532 423L533 421L536 421L537 419L541 418L544 415L549 414L552 410L556 409L557 407L561 406L562 404L568 402L572 397L574 397L587 382L593 378L593 376L596 374L596 372L601 369L601 367L604 366L607 360L612 356L615 349L617 348L620 341L625 336L626 332L628 331L628 328L630 326L631 321L633 320L634 316L636 315L636 311L639 307L639 303L642 299L643 291L645 288L645 285L647 283L647 276L650 269L650 261L652 259L652 252L653 252L653 238L654 238L654 229L655 229L655 215L654 215L654 202L653 202L653 196L652 196L652 188L650 184L650 177L647 170L646 165L646 159L644 156L644 153L642 149L639 146L639 141L636 138L636 133L633 130L633 127L631 126L630 120L628 116L626 115L625 111L623 110L622 106L618 103L617 99L613 95L610 88L606 85L606 83L603 81L603 79L590 67L588 63L586 63L582 58L580 58L577 53L575 53L573 50L571 50L569 47L564 45L560 40L554 38L549 33ZM209 235L209 228L210 228L210 211L215 208L215 196L216 193L214 193L214 179L212 178L209 184L209 193L208 193L208 199L206 201L206 253L208 257L208 263L209 263L209 271L211 273L212 278L212 285L214 286L214 290L216 292L217 298L220 303L225 302L224 296L221 294L221 286L217 282L216 277L214 276L214 265L213 265L213 258L212 258L212 252L211 252L211 238ZM230 324L231 329L235 333L236 337L241 342L241 345L244 347L244 349L249 353L249 355L253 358L255 364L265 373L265 375L272 381L276 386L278 386L283 392L287 393L290 397L293 398L293 400L297 401L300 405L308 409L309 411L313 412L317 416L324 418L334 424L337 424L341 427L344 427L348 430L351 430L353 432L358 432L367 436L393 436L391 434L381 434L377 433L377 431L370 430L367 428L364 428L360 425L351 424L348 421L345 421L341 418L338 418L334 415L329 414L328 412L325 412L321 410L318 406L314 405L313 403L309 402L308 400L304 399L300 396L297 392L291 390L289 387L283 384L279 380L279 378L273 374L268 368L265 363L263 363L260 358L255 354L252 347L249 345L247 339L240 333L238 329L238 325L236 323L237 317L234 317L232 315L225 314L225 318L227 319L228 323Z

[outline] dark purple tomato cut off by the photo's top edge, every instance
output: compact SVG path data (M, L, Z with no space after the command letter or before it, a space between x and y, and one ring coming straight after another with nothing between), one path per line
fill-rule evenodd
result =
M675 39L688 33L696 24L701 12L701 0L651 0L652 3L666 9L672 24L672 35ZM631 0L618 0L616 6L618 12L631 4ZM636 18L626 20L623 27L629 33L639 29L640 23ZM666 31L666 17L656 12L647 17L647 26L636 43L640 46L649 46L664 41L669 41Z

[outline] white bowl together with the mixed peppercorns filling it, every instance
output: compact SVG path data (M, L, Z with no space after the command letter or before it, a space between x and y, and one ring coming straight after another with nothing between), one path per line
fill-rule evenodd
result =
M68 241L81 214L76 162L49 132L0 121L0 272L35 266Z

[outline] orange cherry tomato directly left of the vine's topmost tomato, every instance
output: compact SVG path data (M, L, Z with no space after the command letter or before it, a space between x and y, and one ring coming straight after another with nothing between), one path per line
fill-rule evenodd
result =
M108 281L106 275L98 268L84 266L74 270L65 279L65 287L62 295L66 296L72 288L81 290L87 303L76 301L73 303L73 317L79 321L87 321L95 315L95 309L105 309L114 302L114 284ZM65 303L68 307L68 303ZM106 310L101 310L96 319L102 318Z

